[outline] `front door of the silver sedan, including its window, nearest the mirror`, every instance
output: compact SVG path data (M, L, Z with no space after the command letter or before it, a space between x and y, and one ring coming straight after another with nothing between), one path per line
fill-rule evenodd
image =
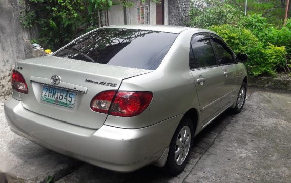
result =
M222 103L228 105L234 101L238 94L242 72L235 61L234 53L220 37L213 34L212 43L221 73L224 76L224 87L223 91L221 91L223 92Z

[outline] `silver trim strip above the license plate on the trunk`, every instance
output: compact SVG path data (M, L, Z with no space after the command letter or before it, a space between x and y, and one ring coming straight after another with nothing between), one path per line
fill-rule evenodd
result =
M47 85L47 86L51 86L51 87L55 87L55 88L63 88L66 90L81 92L81 93L85 93L85 94L87 93L87 90L88 90L86 87L71 84L71 83L66 83L66 82L60 82L60 84L58 84L58 85L52 85L51 79L42 78L42 77L31 76L29 80L31 82L39 83L42 85Z

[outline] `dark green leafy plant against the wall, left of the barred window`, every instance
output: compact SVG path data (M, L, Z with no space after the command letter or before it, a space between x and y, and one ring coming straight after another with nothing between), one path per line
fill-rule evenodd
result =
M24 27L38 24L38 42L55 50L84 32L83 27L93 22L93 17L86 12L88 6L89 0L28 0L22 23Z

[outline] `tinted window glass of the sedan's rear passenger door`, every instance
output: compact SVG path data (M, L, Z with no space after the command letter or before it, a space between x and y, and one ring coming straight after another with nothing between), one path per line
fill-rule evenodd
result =
M209 39L199 40L192 44L191 48L193 50L193 55L190 54L190 68L217 65L213 48Z

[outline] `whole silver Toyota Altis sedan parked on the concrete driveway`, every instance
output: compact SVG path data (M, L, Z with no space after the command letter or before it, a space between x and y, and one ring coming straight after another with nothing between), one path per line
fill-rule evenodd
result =
M209 30L103 27L17 62L5 115L14 133L90 164L177 175L193 137L242 110L246 60Z

